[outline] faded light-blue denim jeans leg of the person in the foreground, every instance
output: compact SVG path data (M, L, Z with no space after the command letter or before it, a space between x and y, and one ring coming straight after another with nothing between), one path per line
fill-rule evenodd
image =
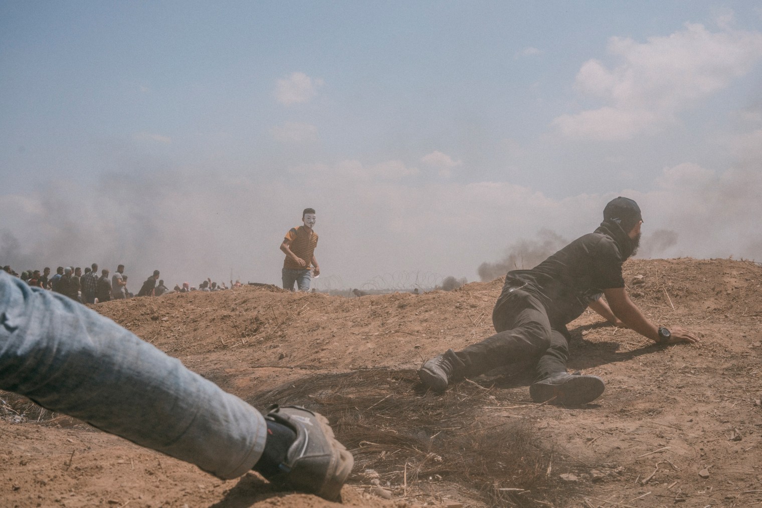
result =
M0 388L218 478L249 471L254 407L66 296L0 272Z

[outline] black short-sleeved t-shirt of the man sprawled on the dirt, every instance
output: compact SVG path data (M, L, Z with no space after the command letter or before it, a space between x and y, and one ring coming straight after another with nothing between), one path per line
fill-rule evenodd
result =
M604 289L624 287L622 263L629 256L629 242L621 228L612 232L601 225L532 270L508 272L503 295L511 287L522 286L543 303L553 326L568 324L599 299Z

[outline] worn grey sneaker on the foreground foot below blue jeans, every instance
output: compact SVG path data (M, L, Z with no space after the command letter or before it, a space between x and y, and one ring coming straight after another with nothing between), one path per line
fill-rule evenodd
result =
M296 432L296 441L280 465L282 472L271 481L335 500L352 471L354 458L336 440L328 420L300 406L274 405L268 409L265 418Z

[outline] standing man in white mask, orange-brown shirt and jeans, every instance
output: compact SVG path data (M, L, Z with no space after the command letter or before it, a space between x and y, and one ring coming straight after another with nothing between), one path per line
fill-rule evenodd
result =
M318 260L315 259L315 248L318 246L318 234L312 231L315 226L315 209L306 208L302 212L302 222L298 228L290 228L280 244L280 250L286 254L283 261L283 289L293 291L296 283L299 291L309 291L309 281L312 280L312 270L315 276L320 275Z

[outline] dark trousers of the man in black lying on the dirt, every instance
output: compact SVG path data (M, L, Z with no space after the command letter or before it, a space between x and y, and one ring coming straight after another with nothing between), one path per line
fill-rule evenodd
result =
M568 331L553 327L545 307L536 296L507 283L492 311L495 335L456 353L463 366L456 372L466 377L497 367L536 363L536 380L566 372Z

